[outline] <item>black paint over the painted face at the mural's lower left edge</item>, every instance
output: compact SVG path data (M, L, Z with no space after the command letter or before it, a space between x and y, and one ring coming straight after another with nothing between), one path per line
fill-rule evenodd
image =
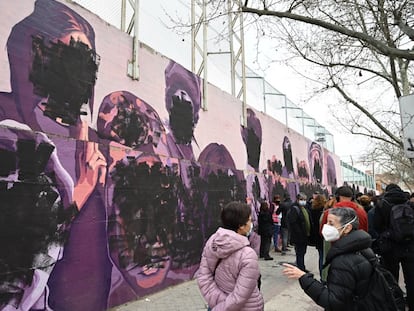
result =
M53 150L48 143L36 147L34 140L18 140L16 152L0 151L5 164L0 181L0 306L21 299L23 289L12 284L29 285L34 269L46 268L36 266L36 256L66 239L70 216L65 215L59 192L44 173ZM17 180L7 178L16 173Z

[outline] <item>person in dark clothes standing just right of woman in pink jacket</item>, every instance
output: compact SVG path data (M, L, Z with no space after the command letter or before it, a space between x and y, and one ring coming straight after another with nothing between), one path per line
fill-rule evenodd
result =
M269 255L273 235L273 220L272 214L270 214L269 203L266 201L263 201L260 204L258 222L258 233L260 235L260 258L264 258L265 260L273 260L273 258Z

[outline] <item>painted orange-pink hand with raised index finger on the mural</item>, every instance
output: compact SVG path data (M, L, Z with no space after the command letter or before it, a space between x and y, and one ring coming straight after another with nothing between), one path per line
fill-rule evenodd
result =
M99 144L88 141L88 125L80 123L77 166L79 178L73 191L73 201L80 210L89 198L97 183L104 185L106 178L106 160L99 151Z

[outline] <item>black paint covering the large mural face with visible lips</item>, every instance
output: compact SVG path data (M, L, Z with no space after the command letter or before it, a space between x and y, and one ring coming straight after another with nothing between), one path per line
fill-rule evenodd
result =
M176 223L177 172L156 162L118 162L111 176L115 182L114 203L118 206L123 227L122 236L114 236L110 247L119 252L122 268L148 265L166 255L173 243ZM158 242L163 251L153 254L151 247ZM126 243L126 244L124 244Z

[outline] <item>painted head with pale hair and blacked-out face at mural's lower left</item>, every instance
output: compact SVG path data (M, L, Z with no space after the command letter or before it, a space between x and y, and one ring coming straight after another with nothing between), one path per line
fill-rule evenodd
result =
M0 310L46 310L47 281L61 259L74 206L63 206L67 178L43 133L0 130ZM4 308L4 309L3 309Z

